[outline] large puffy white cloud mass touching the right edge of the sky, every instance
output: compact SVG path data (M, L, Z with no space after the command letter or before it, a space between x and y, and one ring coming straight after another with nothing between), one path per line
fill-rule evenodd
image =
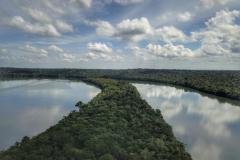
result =
M200 50L207 55L240 53L240 26L235 22L239 17L237 10L219 11L204 30L192 33L192 39L201 42Z

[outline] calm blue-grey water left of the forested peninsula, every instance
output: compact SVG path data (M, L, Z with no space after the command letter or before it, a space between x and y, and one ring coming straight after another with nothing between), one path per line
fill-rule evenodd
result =
M0 150L34 136L88 102L99 89L64 80L0 81Z

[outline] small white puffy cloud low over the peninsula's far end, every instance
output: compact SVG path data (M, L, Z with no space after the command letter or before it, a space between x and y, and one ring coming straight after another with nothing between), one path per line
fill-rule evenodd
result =
M87 49L89 52L86 54L86 58L88 59L102 59L106 61L117 61L122 59L121 56L113 53L112 48L104 43L88 43Z

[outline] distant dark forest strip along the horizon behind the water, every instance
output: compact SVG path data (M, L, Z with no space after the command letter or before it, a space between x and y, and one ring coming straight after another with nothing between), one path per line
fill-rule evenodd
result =
M193 70L84 70L84 69L0 69L0 77L87 78L102 77L168 83L240 100L240 71Z

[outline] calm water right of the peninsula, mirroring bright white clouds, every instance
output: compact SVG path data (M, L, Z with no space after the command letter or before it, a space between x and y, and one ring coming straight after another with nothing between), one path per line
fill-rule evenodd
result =
M173 127L194 160L240 159L239 103L170 86L134 83Z

